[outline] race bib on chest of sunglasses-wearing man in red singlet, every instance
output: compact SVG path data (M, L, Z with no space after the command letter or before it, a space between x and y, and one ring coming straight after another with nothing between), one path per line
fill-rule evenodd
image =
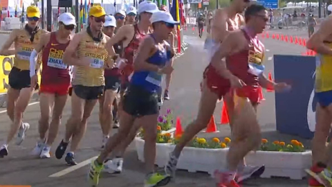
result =
M248 65L249 65L249 73L252 75L261 75L263 73L265 66L262 64L262 55L261 53L257 53L255 51L249 51L248 55Z

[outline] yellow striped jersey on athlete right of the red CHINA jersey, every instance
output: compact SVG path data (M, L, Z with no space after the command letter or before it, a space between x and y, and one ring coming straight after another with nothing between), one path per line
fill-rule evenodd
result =
M102 37L101 42L93 41L92 37L83 31L82 39L77 48L77 57L89 57L90 66L74 66L73 85L82 85L85 87L99 87L105 84L104 63L107 62L109 53L105 45L107 43L106 35Z

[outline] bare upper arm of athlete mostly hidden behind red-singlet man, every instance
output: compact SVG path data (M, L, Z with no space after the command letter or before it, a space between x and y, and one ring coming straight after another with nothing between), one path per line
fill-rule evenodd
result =
M228 35L227 19L228 16L225 9L216 10L216 14L211 20L211 38L214 42L223 42L225 36Z

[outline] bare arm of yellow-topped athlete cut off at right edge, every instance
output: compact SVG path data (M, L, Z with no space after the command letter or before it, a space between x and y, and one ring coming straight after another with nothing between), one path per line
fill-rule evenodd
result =
M332 48L324 44L324 41L332 42L332 17L326 18L316 33L306 43L306 48L324 55L332 55Z

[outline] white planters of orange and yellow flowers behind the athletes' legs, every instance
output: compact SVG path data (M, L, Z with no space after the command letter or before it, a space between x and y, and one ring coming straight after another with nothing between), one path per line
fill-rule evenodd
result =
M165 166L169 159L169 152L174 150L174 144L178 143L180 138L179 136L172 138L173 143L157 143L156 164L159 167ZM225 138L223 142L216 138L210 141L195 138L181 152L177 168L210 174L216 169L225 168L228 143L230 143L228 138ZM136 149L140 161L144 161L143 148L144 140L136 138ZM304 169L310 168L311 165L311 151L305 150L302 143L295 140L286 145L284 142L269 143L266 139L262 139L260 150L250 152L246 156L246 163L252 166L265 165L266 170L261 177L302 179L306 176Z

